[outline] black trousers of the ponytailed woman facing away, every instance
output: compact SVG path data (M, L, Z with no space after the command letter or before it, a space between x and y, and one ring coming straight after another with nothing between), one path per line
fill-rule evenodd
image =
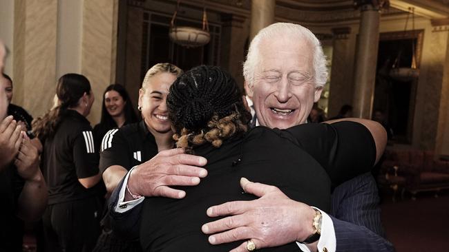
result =
M99 198L48 205L42 217L45 251L92 251L100 233L101 213Z

